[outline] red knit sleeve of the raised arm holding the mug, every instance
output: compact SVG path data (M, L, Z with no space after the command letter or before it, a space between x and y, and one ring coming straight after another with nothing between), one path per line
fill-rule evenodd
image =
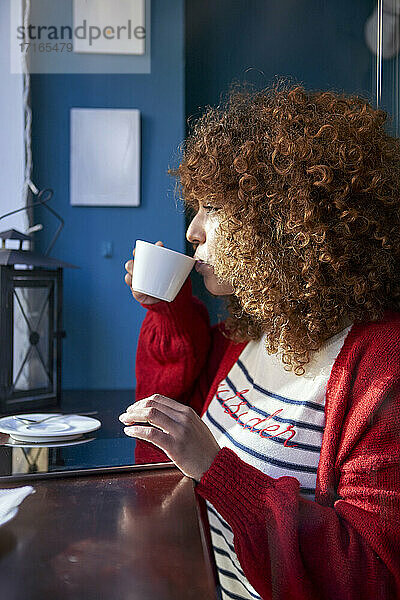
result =
M136 353L136 400L162 394L200 414L228 343L220 326L210 326L206 307L192 296L190 279L173 302L143 306L147 312ZM153 444L136 440L135 460L170 459Z

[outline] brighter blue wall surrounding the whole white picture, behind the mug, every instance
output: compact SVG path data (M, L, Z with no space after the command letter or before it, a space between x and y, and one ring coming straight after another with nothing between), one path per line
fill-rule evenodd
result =
M80 266L64 271L64 389L129 389L142 309L124 283L134 241L163 239L184 250L184 217L167 175L184 137L184 3L153 0L151 74L33 75L33 181L54 188L65 227L51 254ZM72 207L69 200L71 107L137 108L142 114L141 206ZM41 209L44 250L58 222ZM103 258L102 242L114 255Z

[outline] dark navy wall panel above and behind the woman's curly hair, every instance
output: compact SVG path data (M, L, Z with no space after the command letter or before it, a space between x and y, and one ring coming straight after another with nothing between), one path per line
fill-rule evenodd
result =
M364 25L374 6L375 0L187 0L186 116L218 104L233 79L264 87L283 75L308 89L372 98L375 56ZM198 274L193 281L217 321L220 301Z

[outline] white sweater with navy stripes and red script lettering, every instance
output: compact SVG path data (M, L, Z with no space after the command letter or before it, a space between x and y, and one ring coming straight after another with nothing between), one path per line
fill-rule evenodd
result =
M315 353L302 377L268 355L265 338L250 342L219 384L203 420L218 444L271 477L293 476L314 500L332 364L350 327ZM259 599L234 551L233 531L207 501L212 546L223 600Z

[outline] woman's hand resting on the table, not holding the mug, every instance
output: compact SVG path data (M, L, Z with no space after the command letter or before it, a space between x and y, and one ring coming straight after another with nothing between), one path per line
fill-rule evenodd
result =
M126 435L155 444L184 475L196 481L200 481L220 450L192 408L160 394L128 406L119 420L126 425Z

